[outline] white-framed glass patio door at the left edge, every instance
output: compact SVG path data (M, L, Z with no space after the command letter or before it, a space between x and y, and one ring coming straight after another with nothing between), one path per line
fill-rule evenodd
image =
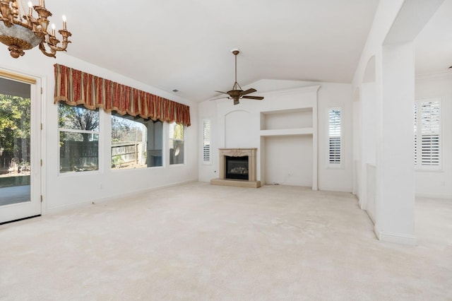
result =
M0 71L0 223L41 214L40 86Z

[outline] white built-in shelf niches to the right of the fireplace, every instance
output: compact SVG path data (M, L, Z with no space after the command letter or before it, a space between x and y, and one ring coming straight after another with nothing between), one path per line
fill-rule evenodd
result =
M263 183L273 181L276 183L277 179L285 178L284 183L288 176L294 175L292 173L288 173L288 176L283 175L284 172L281 172L278 165L280 163L285 166L297 166L304 170L311 165L312 189L318 189L317 91L319 88L320 85L316 85L297 91L291 90L290 93L274 93L266 96L266 99L270 98L275 103L285 105L278 105L278 108L271 106L268 109L276 110L260 112L261 152L259 155ZM285 150L284 146L291 147ZM299 159L303 153L306 154L304 159ZM311 164L309 160L312 161ZM295 170L297 167L294 167ZM269 181L270 177L271 181ZM301 181L301 178L299 180ZM306 182L306 179L303 181Z

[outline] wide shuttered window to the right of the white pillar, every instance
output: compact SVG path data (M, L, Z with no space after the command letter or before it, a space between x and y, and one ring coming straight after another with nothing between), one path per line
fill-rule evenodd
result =
M441 169L440 100L421 100L415 104L415 166Z

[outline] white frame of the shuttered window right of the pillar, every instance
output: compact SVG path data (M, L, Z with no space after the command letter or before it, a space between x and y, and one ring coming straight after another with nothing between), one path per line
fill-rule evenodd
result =
M422 155L422 136L426 135L423 133L422 129L424 128L422 124L422 104L424 103L434 103L438 104L438 123L439 127L437 136L438 136L438 164L423 164L423 155ZM419 172L442 172L443 171L443 118L442 118L442 100L441 98L421 98L415 100L414 105L414 145L413 152L415 153L414 165L415 171ZM420 143L420 144L419 144Z

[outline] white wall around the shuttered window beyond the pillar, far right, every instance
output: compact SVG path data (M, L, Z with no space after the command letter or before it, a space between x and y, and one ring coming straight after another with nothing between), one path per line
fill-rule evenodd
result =
M442 170L415 170L417 196L452 198L452 73L442 73L416 80L416 99L441 99Z

